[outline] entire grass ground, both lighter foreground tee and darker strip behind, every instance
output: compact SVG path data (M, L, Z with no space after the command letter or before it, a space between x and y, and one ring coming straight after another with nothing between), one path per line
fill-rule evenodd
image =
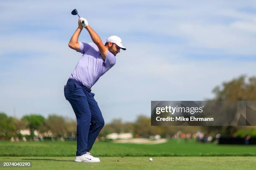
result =
M169 140L156 145L96 142L91 153L100 157L100 163L76 163L75 151L76 142L0 142L0 162L31 162L29 169L38 170L244 170L256 167L256 146L253 145L202 144L192 140ZM153 161L149 162L148 158Z

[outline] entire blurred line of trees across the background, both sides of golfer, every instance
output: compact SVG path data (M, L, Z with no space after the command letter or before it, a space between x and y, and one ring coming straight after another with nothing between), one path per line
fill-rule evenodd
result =
M223 82L212 91L214 98L209 100L256 100L256 77L246 77L242 75L229 82ZM34 137L34 131L38 131L42 136L53 138L75 137L77 123L75 120L61 117L59 115L49 115L45 118L42 115L25 115L21 119L9 117L0 112L0 139L8 140L12 137L21 138L20 130L30 130L29 138ZM150 117L140 115L135 122L122 122L115 119L106 124L100 132L99 137L105 138L110 133L132 133L135 137L149 137L151 135L161 135L162 137L172 136L178 131L182 133L204 132L209 135L220 133L224 136L241 137L246 134L256 136L256 127L238 126L151 126Z

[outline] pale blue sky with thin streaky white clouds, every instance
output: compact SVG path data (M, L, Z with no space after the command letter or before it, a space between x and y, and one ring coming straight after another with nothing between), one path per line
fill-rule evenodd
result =
M204 100L223 81L256 75L256 2L1 1L0 111L75 118L63 86L81 54L77 16L126 51L92 87L106 122L150 116L151 100ZM79 41L91 42L83 30Z

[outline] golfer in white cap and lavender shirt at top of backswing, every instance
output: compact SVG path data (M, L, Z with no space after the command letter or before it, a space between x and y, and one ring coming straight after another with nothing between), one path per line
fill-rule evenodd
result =
M78 42L85 28L93 43ZM82 57L64 87L65 98L71 104L77 118L76 162L100 162L90 154L97 135L104 126L104 119L91 87L105 72L115 65L115 56L120 49L126 50L117 36L107 39L105 45L99 35L84 18L78 20L78 28L69 41L69 47L82 53Z

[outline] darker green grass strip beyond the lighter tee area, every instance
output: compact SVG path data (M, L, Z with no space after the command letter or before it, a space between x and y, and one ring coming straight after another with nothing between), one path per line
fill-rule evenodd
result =
M75 152L76 142L0 142L0 156L69 157ZM100 157L256 156L256 146L205 144L192 140L169 140L156 145L96 142L91 153Z

